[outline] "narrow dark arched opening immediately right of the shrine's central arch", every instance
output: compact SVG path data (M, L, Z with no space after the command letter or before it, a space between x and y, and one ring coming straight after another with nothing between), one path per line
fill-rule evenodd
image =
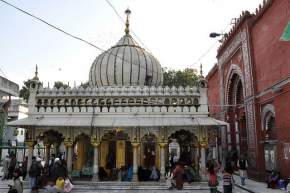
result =
M153 133L147 133L141 138L143 166L145 168L156 166L156 141L157 138Z

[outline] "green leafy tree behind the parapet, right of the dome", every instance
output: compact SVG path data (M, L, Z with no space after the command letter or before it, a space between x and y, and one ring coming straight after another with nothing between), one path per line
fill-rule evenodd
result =
M163 68L163 86L197 86L198 75L195 69L173 70Z

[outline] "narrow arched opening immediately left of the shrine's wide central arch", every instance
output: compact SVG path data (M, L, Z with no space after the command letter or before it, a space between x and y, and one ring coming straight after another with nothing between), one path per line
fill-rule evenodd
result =
M75 138L73 153L73 170L84 176L90 176L93 166L94 150L90 144L90 137L80 134Z

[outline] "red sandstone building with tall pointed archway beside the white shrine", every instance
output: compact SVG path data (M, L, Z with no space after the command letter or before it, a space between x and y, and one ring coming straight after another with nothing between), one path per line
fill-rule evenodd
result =
M212 116L227 121L225 151L247 153L249 175L278 170L290 177L289 0L268 0L243 12L218 49L207 75Z

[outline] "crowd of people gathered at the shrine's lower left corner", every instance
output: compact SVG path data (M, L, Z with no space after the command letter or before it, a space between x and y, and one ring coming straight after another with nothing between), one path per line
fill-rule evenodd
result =
M28 173L27 173L28 171ZM9 193L23 193L22 181L28 176L31 193L69 193L73 185L68 178L65 160L51 155L48 163L40 157L32 157L27 168L27 157L22 163L17 162L14 154L7 155L3 160L2 180L13 179Z

